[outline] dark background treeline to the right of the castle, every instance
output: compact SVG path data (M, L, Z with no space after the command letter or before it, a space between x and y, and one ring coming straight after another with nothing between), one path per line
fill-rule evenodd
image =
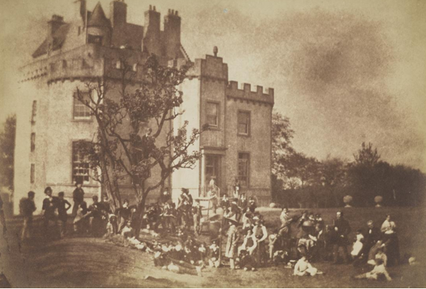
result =
M419 206L426 195L426 175L405 165L381 159L372 143L362 143L352 160L328 156L326 160L299 153L292 147L294 131L289 119L275 112L272 126L272 199L290 208Z

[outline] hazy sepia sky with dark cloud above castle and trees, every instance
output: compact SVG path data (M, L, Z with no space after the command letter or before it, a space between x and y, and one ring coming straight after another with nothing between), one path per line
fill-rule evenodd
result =
M0 122L19 107L17 69L74 0L1 0ZM108 15L110 0L102 0ZM97 1L88 0L93 9ZM362 142L426 172L426 0L126 0L129 23L169 8L190 58L219 47L229 80L275 88L294 148L352 160Z

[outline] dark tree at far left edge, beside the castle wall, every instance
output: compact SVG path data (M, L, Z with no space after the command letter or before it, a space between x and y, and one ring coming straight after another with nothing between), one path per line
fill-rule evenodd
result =
M4 131L0 133L0 183L13 191L13 156L16 138L16 114L11 115L4 123Z

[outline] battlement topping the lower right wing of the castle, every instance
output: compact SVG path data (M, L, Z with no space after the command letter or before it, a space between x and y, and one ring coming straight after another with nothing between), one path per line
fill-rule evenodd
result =
M236 98L238 100L265 102L271 105L275 102L273 88L263 89L263 86L256 85L255 91L252 91L250 83L241 83L240 88L238 88L237 81L229 81L229 84L226 87L226 96L228 98Z

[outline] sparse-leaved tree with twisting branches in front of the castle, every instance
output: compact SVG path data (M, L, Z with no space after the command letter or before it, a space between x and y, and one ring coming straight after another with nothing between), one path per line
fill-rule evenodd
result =
M200 159L200 152L190 148L201 131L188 133L188 122L177 130L169 125L183 114L179 110L183 92L178 87L189 66L162 66L151 56L138 66L143 81L132 90L136 72L125 56L121 61L120 83L114 86L110 85L113 80L98 79L86 83L88 97L79 88L74 97L91 110L98 124L96 139L81 142L80 149L88 155L92 169L100 172L94 178L103 184L115 206L122 203L120 182L130 179L137 199L139 232L149 193L163 187L175 170L192 168ZM147 124L153 126L152 134L143 136Z

